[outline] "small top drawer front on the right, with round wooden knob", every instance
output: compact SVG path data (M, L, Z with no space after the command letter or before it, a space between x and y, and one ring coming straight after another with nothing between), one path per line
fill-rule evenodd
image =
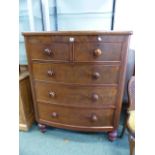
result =
M75 61L120 61L121 43L80 42L74 44Z

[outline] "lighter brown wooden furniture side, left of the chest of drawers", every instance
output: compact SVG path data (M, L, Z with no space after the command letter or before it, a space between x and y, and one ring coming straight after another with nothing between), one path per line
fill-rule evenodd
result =
M33 101L28 71L19 76L19 129L27 131L34 122Z

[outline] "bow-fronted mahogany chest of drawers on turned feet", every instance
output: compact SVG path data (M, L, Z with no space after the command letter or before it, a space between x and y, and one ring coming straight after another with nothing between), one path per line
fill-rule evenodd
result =
M25 32L35 117L117 135L131 32Z

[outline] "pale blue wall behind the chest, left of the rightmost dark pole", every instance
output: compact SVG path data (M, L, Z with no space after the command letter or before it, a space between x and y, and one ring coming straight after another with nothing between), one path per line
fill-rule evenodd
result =
M113 0L20 0L19 3L19 60L27 64L24 31L55 31L55 6L57 5L57 30L110 30ZM42 23L42 17L44 24ZM44 26L43 26L44 25Z

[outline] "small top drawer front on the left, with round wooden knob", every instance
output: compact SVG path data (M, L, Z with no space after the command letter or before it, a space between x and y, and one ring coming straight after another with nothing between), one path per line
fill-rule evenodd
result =
M28 38L28 52L31 59L69 61L71 50L69 42L63 41L63 37L59 41L59 38L57 40L47 36Z

